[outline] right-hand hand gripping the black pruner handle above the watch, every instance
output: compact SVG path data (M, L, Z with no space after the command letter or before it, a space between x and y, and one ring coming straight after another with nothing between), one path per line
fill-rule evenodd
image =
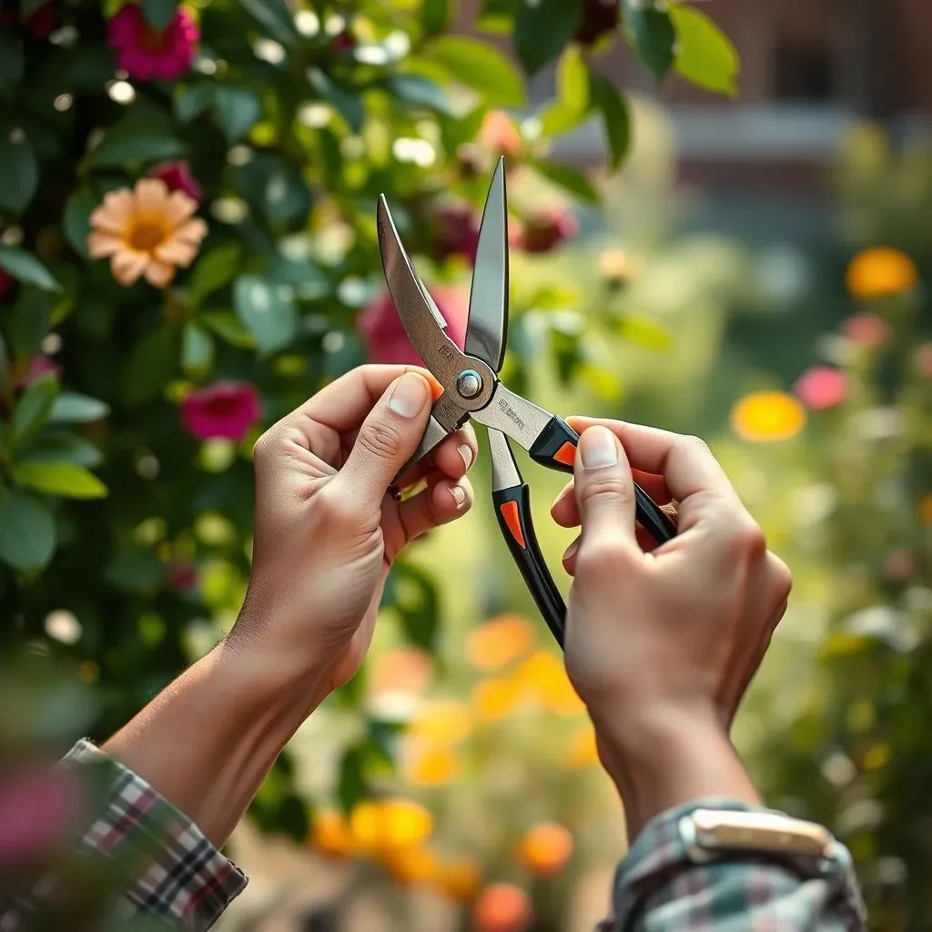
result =
M566 665L596 732L624 745L673 717L727 734L787 608L786 565L698 438L570 423L582 438L553 515L582 524L564 557ZM678 535L655 549L636 533L632 468L654 500L678 502Z

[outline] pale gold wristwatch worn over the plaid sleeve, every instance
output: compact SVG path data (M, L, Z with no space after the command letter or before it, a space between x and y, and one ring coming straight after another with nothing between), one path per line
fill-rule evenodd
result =
M774 812L693 809L679 819L678 829L687 855L695 863L745 851L811 858L819 867L828 867L829 861L847 853L844 845L816 822Z

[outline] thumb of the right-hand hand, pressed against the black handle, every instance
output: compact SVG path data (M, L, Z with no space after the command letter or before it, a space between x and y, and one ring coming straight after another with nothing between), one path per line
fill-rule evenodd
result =
M587 543L607 539L637 550L634 479L624 448L607 427L583 431L573 480L583 526L580 552Z

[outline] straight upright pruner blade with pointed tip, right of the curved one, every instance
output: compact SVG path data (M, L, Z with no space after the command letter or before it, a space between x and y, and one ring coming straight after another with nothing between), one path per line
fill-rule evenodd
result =
M498 372L505 356L508 332L508 201L505 160L499 159L488 185L479 227L479 243L469 296L465 349Z

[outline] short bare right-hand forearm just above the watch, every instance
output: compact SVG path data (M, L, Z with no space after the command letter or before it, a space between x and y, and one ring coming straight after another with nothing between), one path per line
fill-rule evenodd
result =
M630 843L652 818L693 800L724 797L761 805L711 712L655 708L593 718L600 757L624 802Z

